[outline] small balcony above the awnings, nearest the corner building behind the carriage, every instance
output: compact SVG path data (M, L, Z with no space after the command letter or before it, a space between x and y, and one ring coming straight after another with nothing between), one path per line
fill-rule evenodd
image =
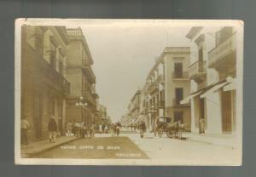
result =
M199 62L197 60L189 66L189 79L195 80L196 83L201 83L206 79L206 77L206 61Z

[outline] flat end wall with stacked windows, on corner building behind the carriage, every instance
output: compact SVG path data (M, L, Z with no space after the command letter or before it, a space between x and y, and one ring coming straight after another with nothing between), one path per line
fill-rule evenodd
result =
M161 58L165 64L166 116L172 117L174 122L181 121L185 128L190 130L190 105L180 104L180 101L190 94L190 48L166 48Z

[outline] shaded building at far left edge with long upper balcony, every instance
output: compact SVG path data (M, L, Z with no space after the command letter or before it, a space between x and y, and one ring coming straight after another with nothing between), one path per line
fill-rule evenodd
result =
M21 117L31 125L28 139L41 140L48 135L52 116L63 133L70 91L66 79L69 40L62 26L22 26L21 32Z

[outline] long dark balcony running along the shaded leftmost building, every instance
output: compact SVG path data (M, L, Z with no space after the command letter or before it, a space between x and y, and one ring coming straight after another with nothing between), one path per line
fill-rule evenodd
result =
M55 68L44 60L41 54L33 49L28 43L22 49L26 56L22 57L22 62L26 65L26 69L31 71L32 75L40 77L40 82L49 84L50 87L57 89L63 94L70 94L70 83Z

